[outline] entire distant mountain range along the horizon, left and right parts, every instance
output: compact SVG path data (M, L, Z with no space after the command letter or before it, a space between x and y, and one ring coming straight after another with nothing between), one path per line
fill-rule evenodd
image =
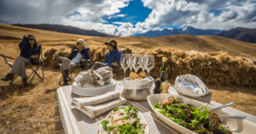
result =
M108 35L99 31L94 30L83 30L77 27L68 26L68 25L20 25L16 24L15 26L45 30L45 31L58 31L63 33L77 34L83 36L101 36L101 37L118 37L113 35ZM147 31L143 34L137 34L136 36L145 36L145 37L157 37L157 36L173 36L173 35L191 35L191 36L223 36L230 39L236 39L242 42L252 42L256 43L256 29L247 29L237 27L229 31L220 31L220 30L201 30L196 29L192 26L183 26L179 29L164 28L158 31Z

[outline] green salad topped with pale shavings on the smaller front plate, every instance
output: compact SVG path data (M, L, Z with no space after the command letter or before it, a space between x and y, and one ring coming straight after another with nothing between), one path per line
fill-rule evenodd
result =
M102 120L99 124L107 130L106 134L143 134L147 123L139 119L137 114L138 110L132 106L114 108L108 120Z

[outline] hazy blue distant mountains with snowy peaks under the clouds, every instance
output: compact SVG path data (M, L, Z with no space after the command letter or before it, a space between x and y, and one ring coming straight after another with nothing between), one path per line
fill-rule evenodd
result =
M172 35L182 35L182 34L189 34L192 36L196 35L203 35L203 36L212 36L217 35L223 31L219 30L200 30L195 29L192 26L183 26L180 29L168 29L165 28L162 31L148 31L143 34L137 36L148 36L148 37L155 37L155 36L172 36Z

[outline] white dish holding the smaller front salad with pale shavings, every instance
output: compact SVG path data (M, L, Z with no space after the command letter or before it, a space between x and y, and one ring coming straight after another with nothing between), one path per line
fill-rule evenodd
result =
M119 106L119 108L125 108L125 107L127 107L127 106ZM109 112L109 114L108 114L108 115L106 116L106 118L103 119L103 120L109 120L109 115L110 115L112 112L114 112L114 109L113 109L111 112ZM144 117L143 117L143 114L142 114L140 111L137 112L137 117L140 118L141 120L144 120L144 121L146 122L146 120L145 120ZM106 131L106 129L103 128L101 122L102 122L102 120L101 120L101 121L98 121L98 125L100 126L99 134L106 134L107 131ZM145 129L144 129L144 134L149 134L148 125L147 125L147 126L145 127Z

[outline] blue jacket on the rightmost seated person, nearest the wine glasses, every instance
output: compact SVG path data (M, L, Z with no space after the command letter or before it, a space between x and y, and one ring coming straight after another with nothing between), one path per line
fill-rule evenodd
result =
M121 52L119 52L117 49L113 49L111 51L109 51L106 54L105 57L105 64L107 64L108 66L111 66L112 63L117 62L117 64L119 64L120 66L120 58L121 58Z

